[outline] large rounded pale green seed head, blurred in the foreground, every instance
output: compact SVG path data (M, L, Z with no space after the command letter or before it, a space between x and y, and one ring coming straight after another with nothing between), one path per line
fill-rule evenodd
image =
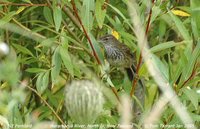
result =
M92 81L72 81L65 95L67 112L77 124L92 124L103 109L103 94Z

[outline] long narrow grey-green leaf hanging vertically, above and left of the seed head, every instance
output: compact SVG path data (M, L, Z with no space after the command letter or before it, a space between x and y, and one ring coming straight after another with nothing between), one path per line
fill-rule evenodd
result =
M59 73L60 73L60 69L61 69L61 57L59 54L59 47L56 48L53 57L52 57L52 70L51 70L51 79L52 82L56 82Z

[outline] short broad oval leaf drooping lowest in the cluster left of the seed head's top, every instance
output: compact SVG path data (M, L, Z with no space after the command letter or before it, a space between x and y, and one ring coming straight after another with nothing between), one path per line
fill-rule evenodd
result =
M36 81L37 91L42 94L46 90L49 84L49 71L42 72L39 74Z

